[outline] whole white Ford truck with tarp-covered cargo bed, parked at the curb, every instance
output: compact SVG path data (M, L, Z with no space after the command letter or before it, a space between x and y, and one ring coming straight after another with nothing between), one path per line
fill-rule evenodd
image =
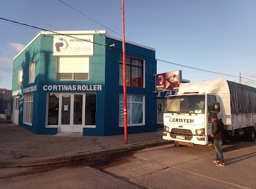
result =
M163 139L176 147L209 144L213 113L222 119L225 137L255 140L256 88L225 79L180 84L166 99Z

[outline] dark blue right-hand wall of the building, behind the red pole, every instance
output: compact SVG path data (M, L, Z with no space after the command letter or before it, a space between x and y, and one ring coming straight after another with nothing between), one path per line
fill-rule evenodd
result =
M110 40L110 41L109 41ZM119 127L119 94L124 93L119 85L119 58L122 54L122 42L109 39L115 48L106 47L106 95L105 95L105 135L120 135L124 127ZM145 125L128 126L128 133L152 132L156 130L156 95L155 90L156 57L154 50L126 43L126 56L145 60L145 88L127 87L127 94L145 95ZM143 56L142 56L143 55Z

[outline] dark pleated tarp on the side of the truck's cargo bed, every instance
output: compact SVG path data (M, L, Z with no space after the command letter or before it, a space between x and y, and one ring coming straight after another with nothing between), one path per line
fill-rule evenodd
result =
M227 80L231 114L256 113L256 88Z

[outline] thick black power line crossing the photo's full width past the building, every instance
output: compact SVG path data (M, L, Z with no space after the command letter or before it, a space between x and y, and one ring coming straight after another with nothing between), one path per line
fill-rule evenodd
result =
M13 21L13 20L3 19L3 18L1 18L1 17L0 17L0 19L1 19L1 20L6 20L6 21L8 21L8 23L9 23L9 22L13 22L13 23L15 23L15 24L19 24L19 26L27 26L27 27L29 27L29 28L31 27L31 29L34 29L34 28L35 28L35 29L41 29L42 31L49 31L49 32L51 32L51 33L60 34L60 35L63 35L63 36L68 36L68 37L70 37L70 38L75 38L75 39L81 40L81 39L76 38L76 37L74 37L74 36L69 36L69 35L67 35L67 34L61 34L61 33L58 33L58 32L56 32L56 31L51 31L51 30L47 30L47 29L40 28L40 27L30 26L30 25L28 25L28 24L23 24L23 23L20 23L20 22L15 22L15 21ZM12 24L12 23L10 23L10 24ZM101 46L107 47L106 45L103 45L103 44L100 44L100 43L95 43L95 42L90 42L90 43L94 43L94 44L96 44L96 45L101 45ZM116 50L121 50L121 51L122 51L122 49L118 49L118 48L116 48L116 47L111 47L111 48L112 48L112 49L116 49ZM129 52L129 51L127 51L127 52ZM176 65L176 66L181 66L181 67L184 67L184 68L189 68L189 69L192 69L192 70L198 70L198 71L200 71L200 72L214 73L214 74L226 75L226 76L229 76L229 77L236 77L236 78L239 77L239 76L236 76L236 75L228 75L228 74L226 74L226 73L212 72L212 71L209 71L209 70L203 70L203 69L200 69L200 68L194 68L194 67L191 67L191 66L185 66L185 65L182 65L182 64L178 64L178 63L172 63L172 62L170 62L170 61L164 61L164 60L162 60L162 59L156 59L156 58L149 57L149 56L145 56L145 55L138 54L138 53L135 53L135 52L129 52L129 53L135 54L135 55L138 55L138 56L142 56L142 57L147 57L148 59L154 59L154 60L156 60L156 61L161 61L161 62L164 62L164 63L169 63L169 64L173 64L173 65ZM246 78L244 78L244 77L241 77L241 78L242 78L242 79L246 79ZM256 80L252 80L252 79L246 79L246 80L250 80L250 81L256 82Z

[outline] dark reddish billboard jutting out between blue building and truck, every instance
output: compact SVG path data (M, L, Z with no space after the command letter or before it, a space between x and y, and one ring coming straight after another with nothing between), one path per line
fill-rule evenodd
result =
M181 82L181 70L156 74L156 91L177 91Z

